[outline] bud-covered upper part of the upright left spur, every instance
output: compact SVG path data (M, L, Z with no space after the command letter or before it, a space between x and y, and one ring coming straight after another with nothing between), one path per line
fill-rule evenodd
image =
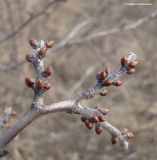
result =
M47 50L52 48L54 41L37 41L35 39L30 39L29 44L35 50L32 54L26 55L26 60L33 64L34 68L41 68L40 69L40 76L36 80L26 77L25 84L36 91L47 91L51 88L51 85L47 82L47 78L50 77L53 73L53 69L51 66L43 69L43 65L41 60L46 56ZM40 66L42 65L42 67ZM36 69L35 69L36 71Z

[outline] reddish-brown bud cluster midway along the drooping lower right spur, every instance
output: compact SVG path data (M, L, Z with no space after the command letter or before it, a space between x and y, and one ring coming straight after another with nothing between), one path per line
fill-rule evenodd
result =
M105 121L103 116L106 115L109 112L109 110L106 108L100 108L100 107L97 107L96 109L97 109L97 112L95 112L95 114L88 117L82 116L81 121L85 123L88 129L92 129L93 125L96 124L95 132L99 135L102 132L102 127L99 126L97 123Z

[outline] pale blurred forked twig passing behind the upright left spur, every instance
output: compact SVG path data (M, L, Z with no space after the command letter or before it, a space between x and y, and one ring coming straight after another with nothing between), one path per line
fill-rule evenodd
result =
M54 2L57 2L57 1L61 1L61 0L54 0L52 2L54 3ZM44 11L42 11L41 13L43 13L43 12ZM40 13L40 15L41 15L41 13ZM76 38L76 35L79 33L79 31L81 31L83 29L86 29L87 26L92 25L93 22L94 22L93 20L83 21L80 24L78 24L76 27L74 27L74 29L68 34L67 37L65 37L61 42L56 44L54 48L51 49L51 54L54 53L55 51L59 50L59 49L62 49L64 47L67 47L67 46L70 46L70 45L84 44L85 42L91 41L91 40L96 39L96 38L106 37L106 36L110 36L110 35L113 35L113 34L116 34L116 33L122 32L122 31L135 29L135 28L139 27L140 25L142 25L142 24L144 24L144 23L148 22L149 20L151 20L153 18L156 18L156 17L157 17L157 10L154 10L148 16L140 18L133 23L126 24L123 27L115 27L115 28L110 29L110 30L98 31L96 33L91 33L86 37ZM10 71L10 70L13 70L13 69L25 64L25 63L26 63L25 60L23 60L23 61L20 61L20 62L16 62L14 64L10 64L9 66L7 65L6 67L0 67L0 72L4 72L4 71L7 72L7 71Z

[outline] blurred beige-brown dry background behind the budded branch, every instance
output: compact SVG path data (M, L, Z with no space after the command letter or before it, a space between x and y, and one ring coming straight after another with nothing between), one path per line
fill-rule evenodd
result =
M107 119L135 134L128 151L112 146L106 131L100 136L89 131L80 116L56 113L23 130L8 145L4 160L156 160L157 1L131 1L151 4L138 6L124 2L130 1L0 1L0 107L18 113L1 134L32 101L33 92L24 84L26 76L34 75L25 62L32 52L30 37L55 41L45 60L54 69L46 104L81 93L95 83L98 71L106 66L114 70L129 52L137 53L140 62L134 75L121 78L124 85L85 103L108 107Z

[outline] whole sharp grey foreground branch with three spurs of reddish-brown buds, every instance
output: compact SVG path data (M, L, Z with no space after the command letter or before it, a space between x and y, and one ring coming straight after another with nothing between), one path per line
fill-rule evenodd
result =
M95 132L98 135L101 134L104 128L111 134L112 144L119 142L122 148L127 149L128 140L133 137L133 134L127 129L119 130L106 121L104 116L108 113L108 109L97 106L95 108L84 107L83 101L93 98L96 95L106 96L107 90L104 89L105 87L111 85L120 86L122 82L118 80L119 77L124 74L132 74L135 72L137 65L137 61L135 61L137 57L136 54L131 53L128 57L123 57L120 66L113 72L110 72L109 68L99 72L96 76L96 84L76 97L45 106L43 95L51 87L48 80L53 70L51 66L44 69L43 64L47 50L53 46L53 41L45 42L31 39L30 45L33 47L34 51L32 54L26 55L26 60L33 65L35 79L27 77L25 83L34 91L34 98L28 111L15 125L0 137L0 156L3 157L7 155L8 151L5 149L6 145L31 122L45 114L55 112L80 114L81 120L85 123L87 128L91 129L95 125Z

